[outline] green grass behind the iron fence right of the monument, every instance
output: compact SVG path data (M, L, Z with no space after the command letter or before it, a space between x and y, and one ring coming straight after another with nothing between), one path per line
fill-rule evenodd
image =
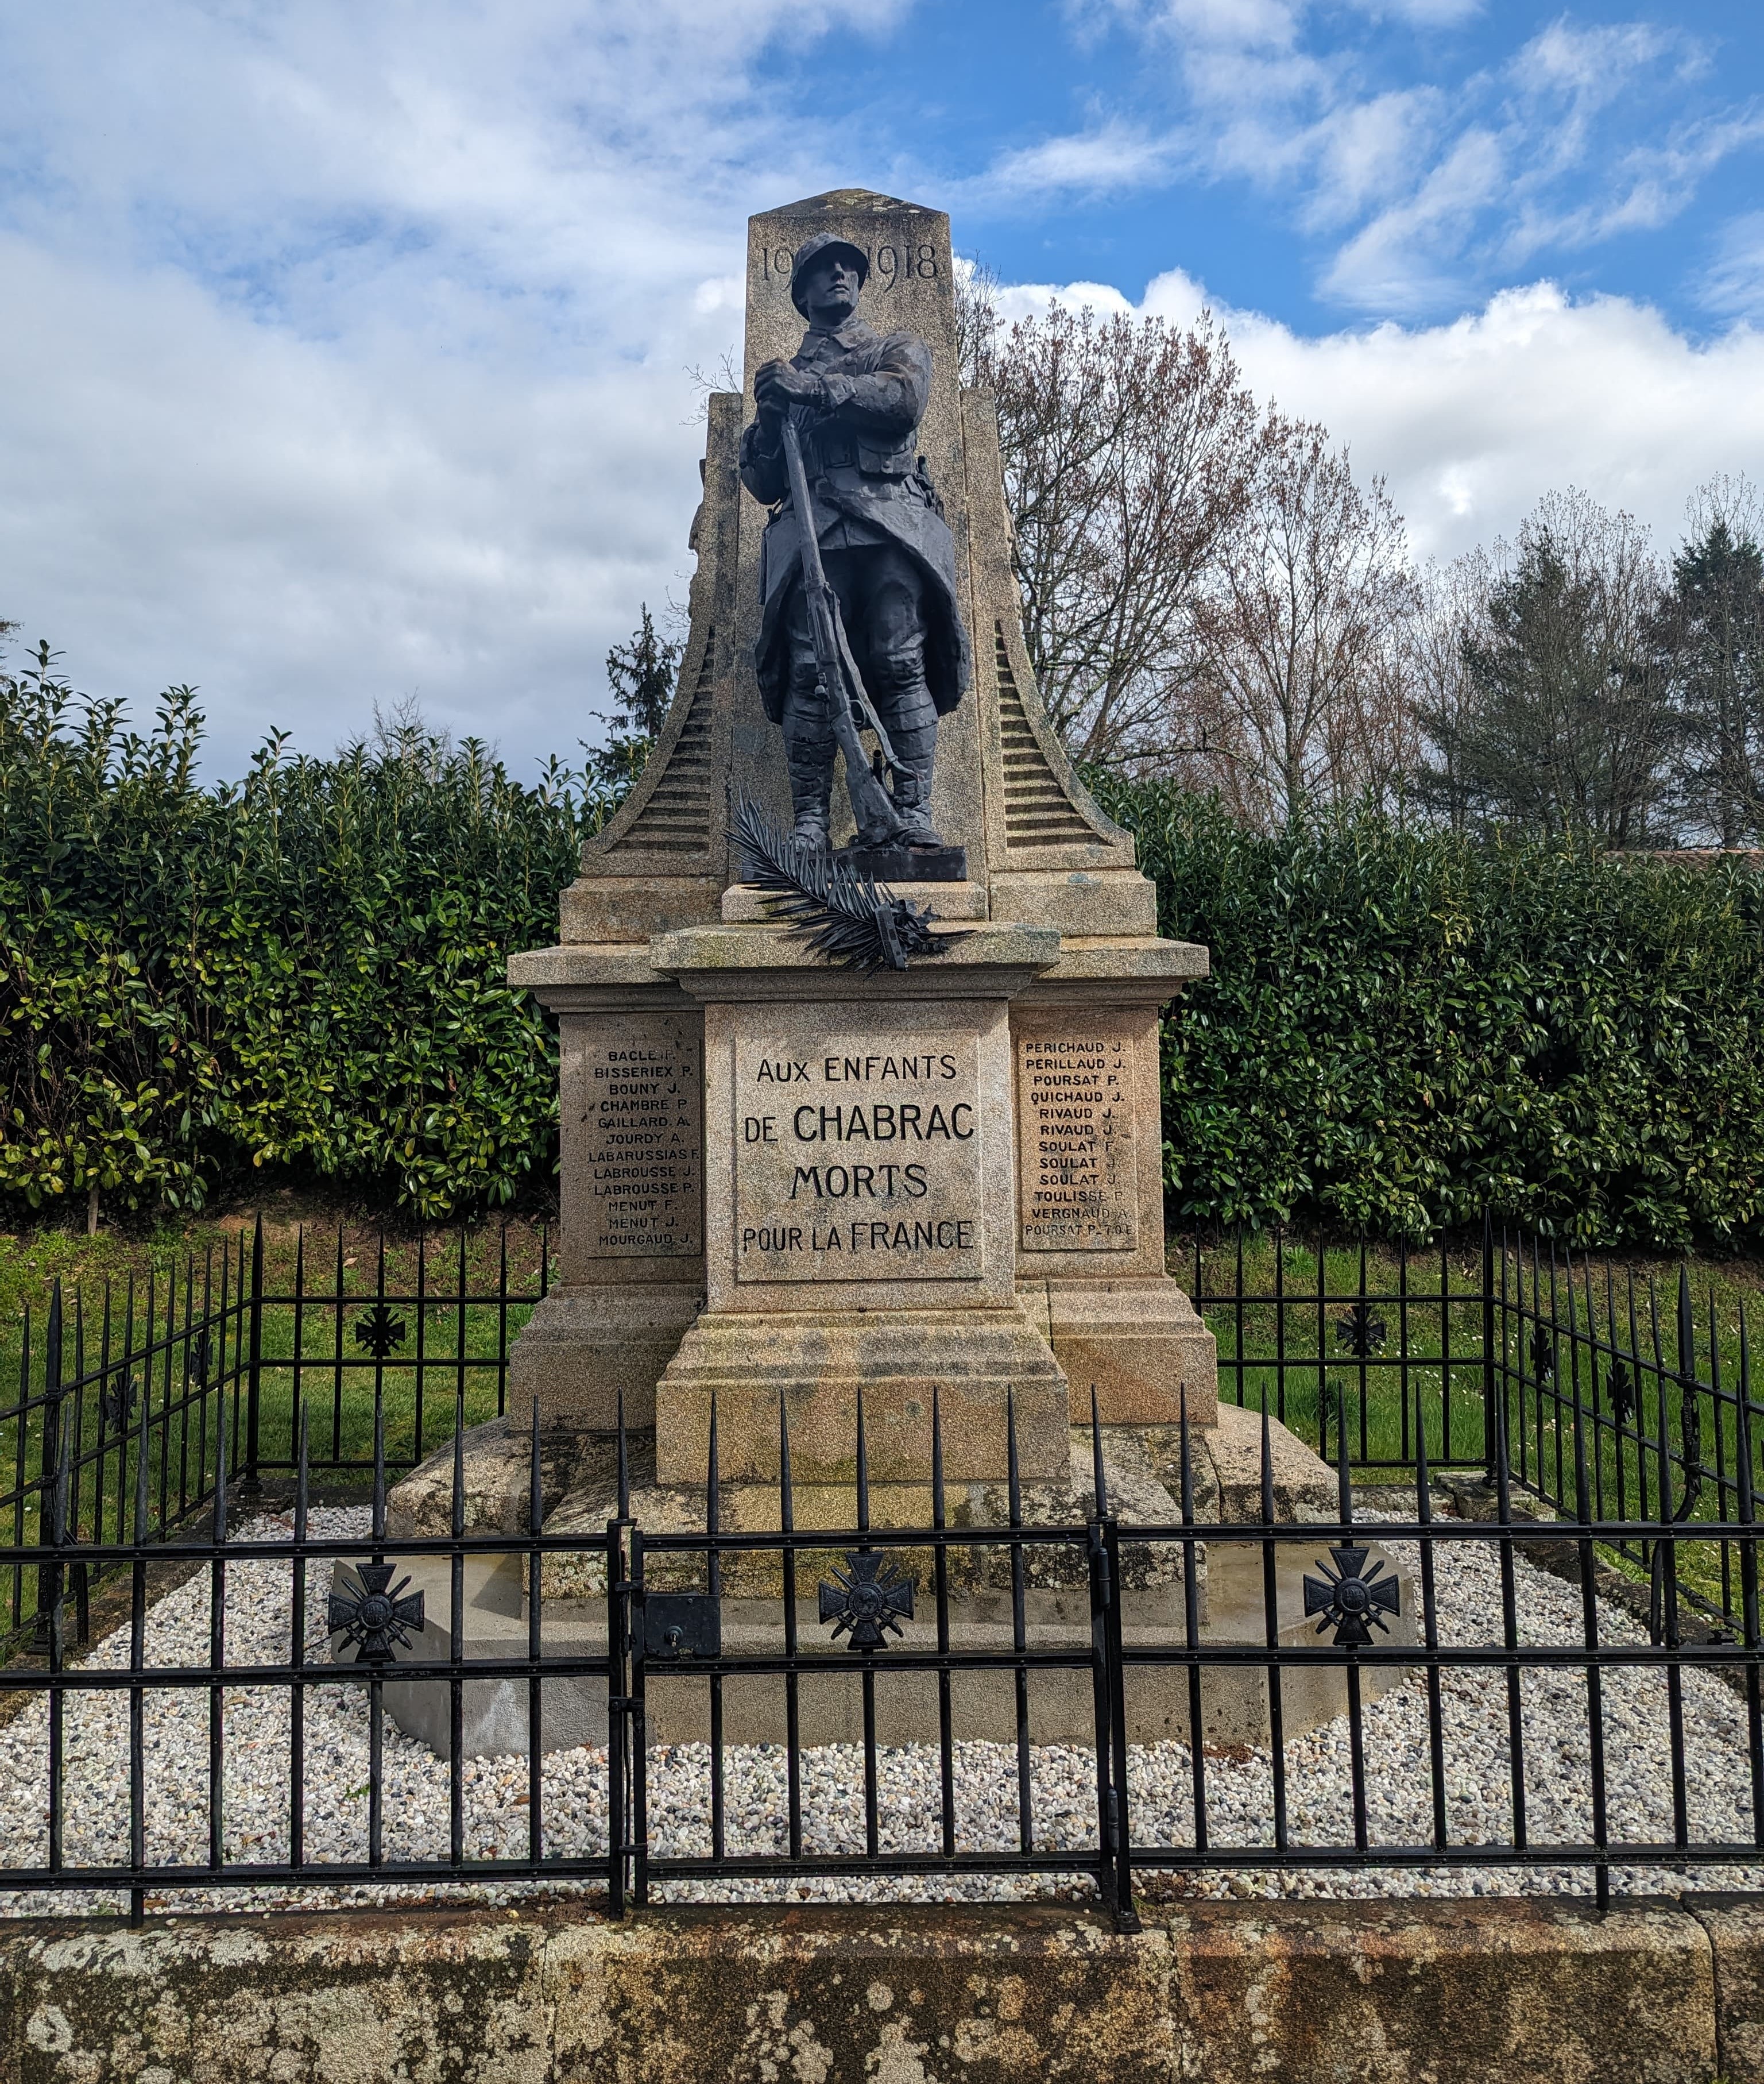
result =
M1579 1398L1593 1517L1664 1517L1662 1432L1674 1457L1685 1459L1689 1446L1677 1382L1681 1265L1693 1313L1691 1371L1706 1388L1724 1392L1720 1407L1708 1394L1693 1398L1706 1473L1691 1521L1743 1517L1733 1398L1749 1384L1747 1319L1758 1317L1764 1292L1756 1259L1574 1259L1572 1269L1568 1261L1552 1269L1547 1252L1522 1263L1508 1259L1506 1294L1529 1311L1502 1313L1495 1323L1495 1350L1510 1384L1508 1463L1518 1488L1535 1486L1562 1509L1574 1509ZM1404 1257L1358 1244L1277 1246L1262 1236L1245 1240L1241 1250L1235 1242L1202 1248L1195 1259L1189 1238L1173 1246L1170 1271L1198 1296L1218 1340L1220 1396L1250 1409L1266 1405L1331 1459L1339 1453L1337 1411L1345 1413L1350 1461L1366 1465L1362 1480L1400 1480L1410 1471L1418 1428L1435 1469L1483 1465L1479 1240ZM1500 1284L1497 1269L1497 1292ZM1539 1315L1562 1332L1572 1325L1579 1338L1545 1336L1539 1355ZM1539 1380L1541 1357L1547 1373ZM1764 1488L1764 1423L1749 1430L1754 1488ZM1672 1469L1670 1484L1668 1505L1677 1511L1685 1496L1681 1469ZM1710 1598L1737 1596L1733 1544L1681 1542L1677 1567L1681 1582Z

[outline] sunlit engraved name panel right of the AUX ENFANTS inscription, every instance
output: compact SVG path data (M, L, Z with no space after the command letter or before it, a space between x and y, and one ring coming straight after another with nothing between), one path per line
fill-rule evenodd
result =
M1016 1034L1020 1246L1131 1252L1139 1242L1133 1040L1110 1015Z

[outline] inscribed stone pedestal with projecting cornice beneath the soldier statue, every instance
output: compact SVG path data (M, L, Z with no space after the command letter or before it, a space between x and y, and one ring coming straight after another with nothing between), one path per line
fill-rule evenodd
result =
M829 969L775 925L519 957L560 1013L560 1282L514 1348L516 1409L606 1430L623 1390L664 1484L1025 1484L1064 1430L1206 1425L1212 1338L1162 1269L1158 1007L1204 952L979 921L904 973ZM694 1075L696 1073L696 1075ZM902 1507L906 1500L900 1500Z

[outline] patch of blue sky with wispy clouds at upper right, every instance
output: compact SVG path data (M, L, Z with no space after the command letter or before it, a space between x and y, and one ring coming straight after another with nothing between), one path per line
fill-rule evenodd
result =
M954 188L1014 279L1179 267L1306 331L1537 275L1689 329L1758 311L1764 13L1737 0L973 4L910 42L904 104L900 38L833 33L796 77Z

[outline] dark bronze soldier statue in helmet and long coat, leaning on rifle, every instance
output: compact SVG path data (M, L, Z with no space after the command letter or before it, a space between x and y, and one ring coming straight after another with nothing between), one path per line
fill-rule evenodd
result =
M760 552L764 613L754 663L766 715L783 725L796 834L825 848L835 717L804 586L783 436L789 421L821 563L862 690L893 752L893 844L908 863L914 854L929 863L943 846L931 823L937 719L968 684L968 636L956 604L956 544L916 450L931 348L914 333L864 325L858 296L868 271L868 258L848 240L831 231L806 240L789 294L808 333L791 361L754 373L758 417L741 436L741 483L773 506ZM852 790L850 771L846 786ZM904 873L912 875L912 867Z

